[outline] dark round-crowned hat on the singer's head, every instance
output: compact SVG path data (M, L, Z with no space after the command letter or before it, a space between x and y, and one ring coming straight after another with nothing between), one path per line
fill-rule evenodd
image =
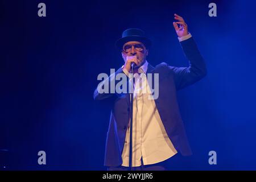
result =
M129 28L123 31L122 38L115 42L115 46L118 49L123 48L123 44L130 41L138 41L144 44L146 48L151 46L151 40L146 38L144 31L139 28Z

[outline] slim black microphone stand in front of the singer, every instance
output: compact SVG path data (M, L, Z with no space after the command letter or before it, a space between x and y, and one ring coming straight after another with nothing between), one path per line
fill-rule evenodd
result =
M130 95L130 147L129 147L129 167L130 171L133 169L133 92L134 92L134 85L133 85L133 70L134 70L134 63L131 63L131 73L132 73L132 79L131 79L131 86L132 90Z

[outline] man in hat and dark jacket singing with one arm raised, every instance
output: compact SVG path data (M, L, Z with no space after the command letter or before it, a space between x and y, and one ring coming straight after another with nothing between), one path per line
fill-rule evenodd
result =
M177 68L166 63L152 67L147 61L151 41L137 28L123 31L122 38L115 43L125 61L115 76L122 73L128 78L131 63L135 64L134 73L137 75L158 73L159 76L159 93L155 99L148 97L152 95L148 80L135 77L133 89L148 92L134 92L133 170L166 170L164 163L177 152L181 155L192 154L180 116L176 91L201 80L207 74L207 69L184 19L177 14L174 18L174 28L189 61L188 67ZM109 77L104 82L112 79L115 77ZM101 93L97 88L94 100L103 99L109 99L111 107L104 165L109 170L127 170L130 144L129 93Z

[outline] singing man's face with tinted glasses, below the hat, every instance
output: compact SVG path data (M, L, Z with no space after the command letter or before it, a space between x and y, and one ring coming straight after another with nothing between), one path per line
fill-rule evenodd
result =
M130 41L123 44L122 57L125 62L127 56L137 56L139 65L136 67L141 67L145 63L147 55L148 50L141 42Z

